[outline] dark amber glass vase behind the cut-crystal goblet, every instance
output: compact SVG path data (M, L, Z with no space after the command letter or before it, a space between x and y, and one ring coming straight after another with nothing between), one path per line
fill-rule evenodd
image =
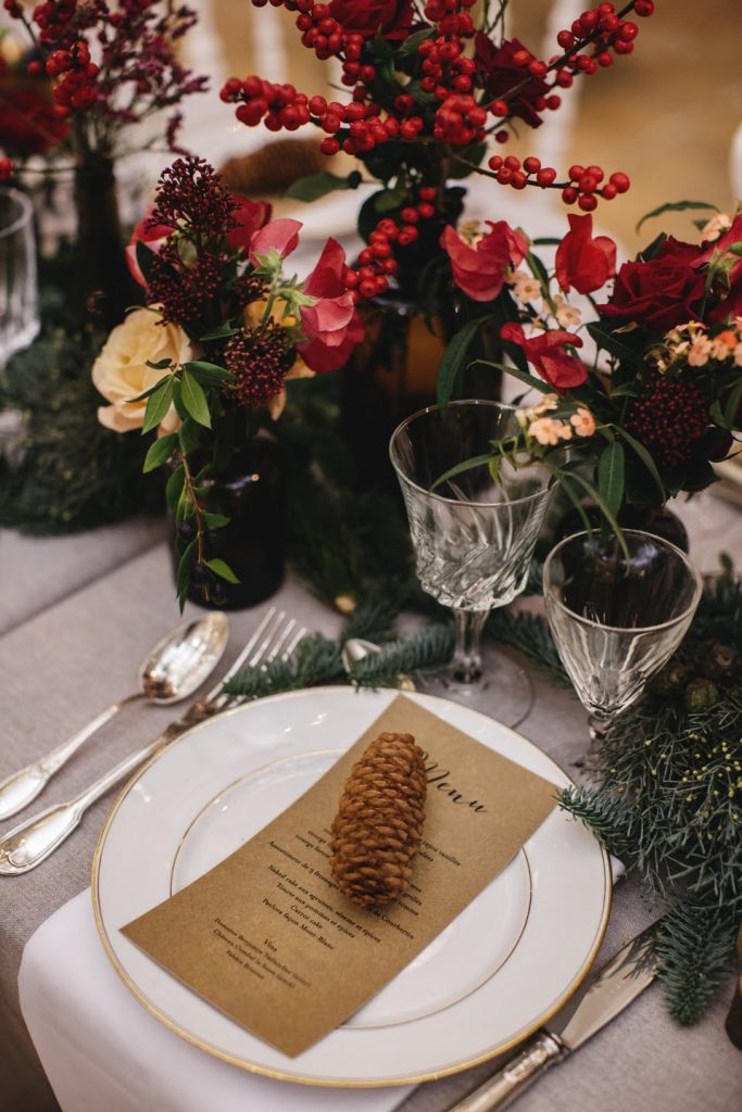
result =
M366 337L342 371L340 427L360 484L397 489L389 437L397 425L437 401L438 367L451 337L462 327L455 311L429 321L414 299L384 295L363 308ZM469 359L497 361L494 331L481 329ZM502 376L493 367L468 368L457 397L499 398Z

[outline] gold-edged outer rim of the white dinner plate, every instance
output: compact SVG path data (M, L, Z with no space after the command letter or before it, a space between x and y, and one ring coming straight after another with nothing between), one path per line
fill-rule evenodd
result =
M233 715L235 715L235 714L244 711L246 707L253 706L255 703L270 703L270 702L276 702L277 699L294 699L296 697L300 697L300 696L305 695L307 691L311 691L313 694L333 694L333 695L335 695L338 692L348 692L348 691L350 691L350 688L348 688L348 687L340 687L340 686L321 686L321 687L303 688L303 689L296 691L296 692L281 692L281 693L278 693L276 695L267 695L267 696L265 696L261 699L254 699L253 703L244 703L240 706L233 707L229 711L222 712L219 715L219 717L220 718L221 717L225 717L225 718L226 717L231 717ZM378 691L379 692L386 692L386 691L388 691L388 692L393 692L394 694L398 694L397 689L393 688L393 687L379 687ZM355 693L355 694L356 694L356 697L357 697L357 695L359 693ZM454 703L453 699L441 698L437 695L429 695L429 696L426 696L426 697L435 699L436 702L439 702L439 703L449 704L449 705L452 705L454 707L457 707L457 708L459 707L459 704L458 703ZM464 707L464 709L467 709L471 713L476 714L478 717L486 718L489 722L496 722L497 725L501 728L507 729L509 733L515 734L521 742L523 742L525 745L530 746L531 748L536 749L536 752L541 756L545 757L550 762L550 764L552 764L554 766L554 768L560 773L561 776L565 776L570 781L571 784L574 784L574 781L572 780L572 777L568 776L564 772L564 770L561 768L560 765L557 765L556 762L552 757L548 756L548 754L544 753L543 749L540 749L538 746L535 744L535 742L532 742L527 737L524 737L523 734L518 734L515 729L511 728L509 726L505 726L505 725L503 725L503 723L498 723L497 719L496 718L492 718L491 715L483 714L481 711L472 711L469 707ZM197 1046L199 1050L202 1050L205 1053L210 1054L211 1058L217 1058L217 1059L219 1059L219 1061L227 1062L229 1065L237 1066L237 1069L244 1070L247 1073L254 1073L254 1074L257 1074L257 1075L263 1076L263 1078L271 1078L274 1081L285 1081L285 1082L288 1082L290 1084L308 1085L308 1086L317 1088L317 1089L392 1089L392 1088L402 1088L404 1085L419 1085L419 1084L423 1084L423 1082L426 1082L426 1081L439 1081L443 1078L449 1078L449 1076L452 1076L452 1075L454 1075L456 1073L463 1073L464 1070L472 1069L475 1065L482 1065L482 1063L488 1062L493 1058L498 1058L501 1054L506 1053L508 1050L513 1050L515 1046L520 1045L530 1035L534 1034L534 1032L538 1031L540 1027L542 1027L545 1023L548 1022L548 1020L552 1019L553 1015L556 1015L556 1013L560 1011L560 1009L562 1009L564 1006L564 1004L567 1002L567 1000L573 995L573 993L575 993L577 991L577 989L581 986L581 984L583 983L583 981L586 979L587 974L590 973L590 971L591 971L591 969L593 966L593 962L595 961L595 957L597 956L597 952L601 949L601 945L603 943L603 939L605 936L605 931L606 931L607 924L609 924L609 919L611 916L611 909L612 909L612 905L613 905L613 882L612 882L610 858L609 858L607 852L605 851L605 848L603 846L600 845L600 843L598 843L598 848L601 851L601 856L603 858L603 884L604 884L604 887L603 887L603 914L602 914L602 917L601 917L601 922L598 923L597 930L595 932L595 939L594 939L594 942L593 942L593 946L592 946L592 949L591 949L587 957L585 959L582 967L580 969L577 975L575 977L573 977L573 980L570 982L570 984L567 985L567 987L565 989L565 991L563 992L563 994L558 996L558 999L555 1001L555 1003L546 1012L544 1012L542 1015L538 1016L538 1019L537 1019L536 1022L534 1022L533 1024L530 1024L528 1026L524 1027L522 1031L518 1031L511 1039L505 1040L504 1042L498 1043L494 1048L489 1048L488 1050L483 1051L483 1053L478 1054L476 1058L468 1059L468 1060L466 1060L464 1062L456 1062L453 1065L448 1065L448 1066L446 1066L443 1070L435 1070L435 1071L433 1071L431 1073L406 1074L404 1076L394 1076L394 1078L374 1078L374 1079L370 1079L370 1080L369 1079L353 1078L353 1079L343 1079L342 1081L338 1081L336 1078L317 1078L317 1076L305 1075L305 1074L299 1074L299 1073L284 1073L281 1070L273 1070L269 1066L257 1065L254 1062L247 1062L244 1058L238 1058L235 1054L228 1054L225 1051L219 1050L218 1046L214 1046L210 1043L204 1042L204 1040L199 1039L197 1035L194 1035L189 1031L186 1031L184 1027L178 1026L176 1023L172 1022L172 1020L168 1015L166 1015L158 1007L156 1007L144 995L144 993L141 992L141 990L131 980L131 977L126 972L126 970L123 969L123 966L119 962L118 957L116 956L113 947L111 946L110 941L108 939L108 934L107 934L107 931L106 931L106 927L105 927L103 921L102 921L102 913L100 911L99 891L98 891L98 875L99 875L100 858L101 858L101 855L102 855L103 845L105 845L105 842L106 842L108 830L109 830L109 827L110 827L113 818L116 817L116 814L117 814L120 805L123 803L123 800L129 794L129 792L131 791L131 788L133 787L133 785L137 783L137 781L139 780L139 777L142 776L145 774L145 772L147 772L147 770L152 764L155 764L156 761L159 761L159 758L162 756L164 753L166 753L168 749L172 748L175 745L178 745L180 742L184 741L184 738L188 737L190 734L194 734L197 731L199 731L199 729L204 728L205 726L209 725L212 721L214 721L212 718L209 718L206 722L200 722L197 725L192 726L190 729L188 729L188 731L184 732L182 734L178 735L178 737L175 737L167 745L164 745L162 748L160 748L156 753L154 753L152 756L150 756L142 765L140 765L139 768L137 768L137 771L126 782L126 784L123 785L123 787L120 790L120 792L118 793L118 795L113 800L113 803L111 804L111 808L108 812L108 814L106 815L106 821L103 822L103 825L100 828L100 833L99 833L98 840L96 842L95 853L93 853L93 856L92 856L91 885L90 885L91 897L92 897L92 911L93 911L93 916L95 916L95 921L96 921L96 930L98 931L98 937L100 939L100 942L101 942L101 945L102 945L103 951L106 953L106 956L108 957L109 962L113 966L113 970L116 971L116 973L119 976L119 979L121 980L121 982L126 985L126 987L135 996L135 999L141 1004L141 1006L147 1012L149 1012L150 1015L154 1015L155 1019L157 1019L165 1027L167 1027L168 1031L171 1031L174 1034L178 1035L178 1037L180 1037L180 1039L185 1040L186 1042L190 1043L192 1046Z

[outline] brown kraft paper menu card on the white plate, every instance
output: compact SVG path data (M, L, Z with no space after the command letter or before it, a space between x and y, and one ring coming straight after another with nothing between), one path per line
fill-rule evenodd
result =
M368 910L330 880L329 827L353 764L383 731L410 733L426 752L426 820L410 887ZM333 738L326 743L332 748ZM194 992L294 1058L408 965L554 806L553 784L398 696L283 814L122 931Z

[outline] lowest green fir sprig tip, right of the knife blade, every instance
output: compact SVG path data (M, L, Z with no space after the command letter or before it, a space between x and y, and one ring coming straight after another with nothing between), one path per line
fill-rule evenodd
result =
M734 969L740 926L728 909L680 903L657 933L657 977L670 1014L683 1026L698 1023Z

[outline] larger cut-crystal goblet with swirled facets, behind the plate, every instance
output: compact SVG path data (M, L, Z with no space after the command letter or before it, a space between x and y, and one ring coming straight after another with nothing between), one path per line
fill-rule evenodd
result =
M451 606L456 649L444 682L469 705L506 725L528 713L526 674L505 653L487 652L481 683L482 631L489 612L525 587L548 503L552 476L543 464L487 466L493 440L515 435L515 409L496 401L453 401L413 414L395 429L389 456L405 499L417 575L427 594ZM443 483L452 468L478 457Z

